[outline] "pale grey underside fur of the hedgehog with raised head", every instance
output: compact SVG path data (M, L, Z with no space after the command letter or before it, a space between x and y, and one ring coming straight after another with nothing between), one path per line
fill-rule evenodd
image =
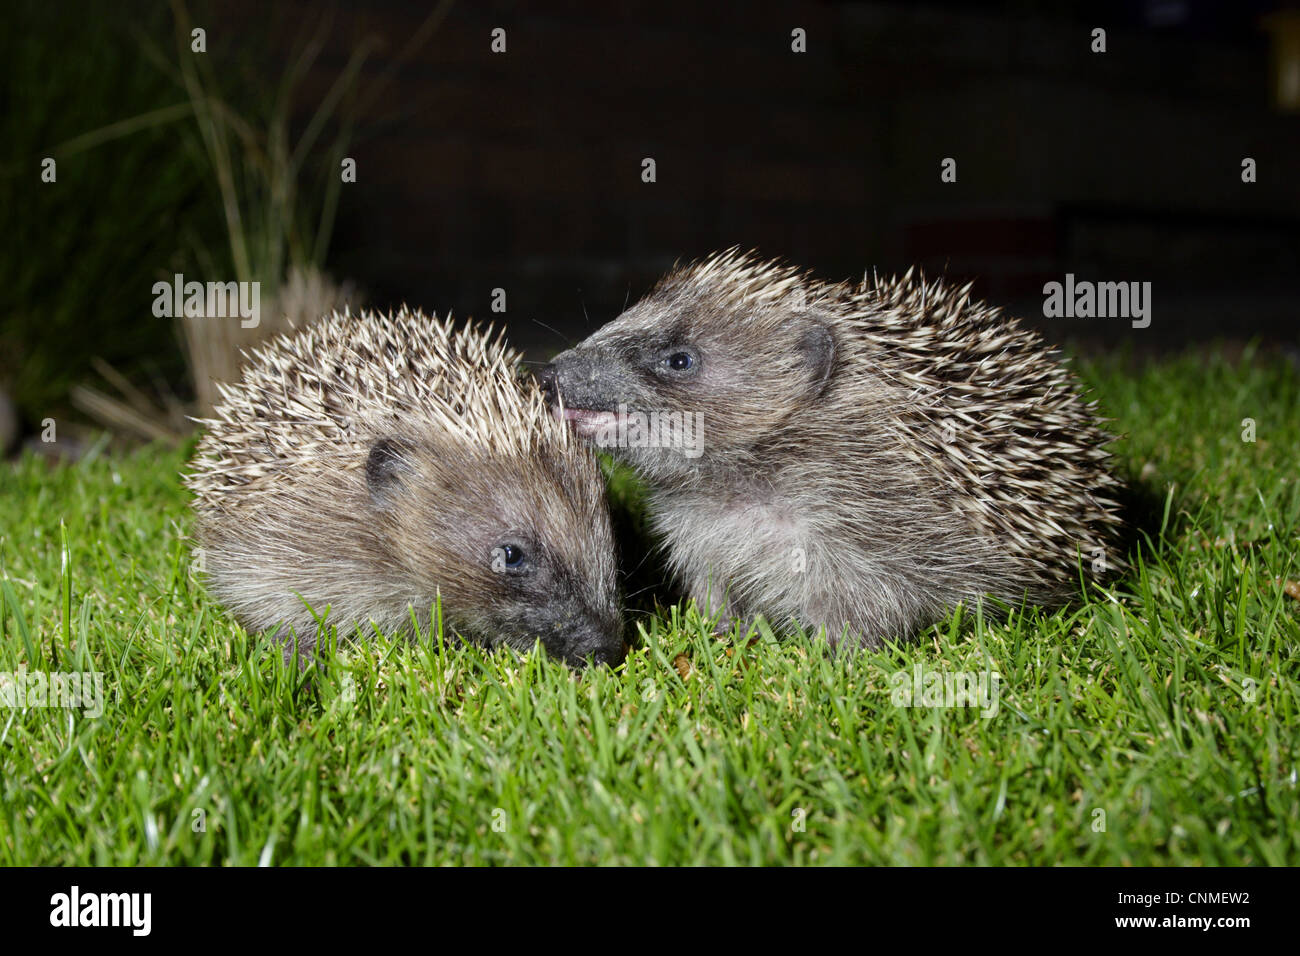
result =
M824 627L832 641L845 630L910 633L958 601L998 592L1014 570L996 541L972 535L937 497L914 497L906 511L890 506L879 518L893 527L872 529L868 511L849 512L857 498L837 502L819 490L768 490L759 503L733 498L724 509L707 494L660 490L654 527L707 614Z

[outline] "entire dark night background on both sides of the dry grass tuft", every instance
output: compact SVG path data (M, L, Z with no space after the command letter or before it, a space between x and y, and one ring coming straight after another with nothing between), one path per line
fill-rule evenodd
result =
M675 260L736 245L828 278L916 264L974 280L1076 351L1295 349L1300 113L1275 96L1265 29L1300 22L1294 4L462 0L399 60L432 9L187 7L237 104L273 99L295 43L325 25L295 135L376 44L359 81L390 82L356 117L358 182L325 260L369 306L504 320L545 359ZM185 100L142 56L174 46L173 16L17 0L0 38L0 388L29 433L96 356L186 398L152 282L233 277L186 254L222 242L185 124L69 155L57 189L36 183L55 144ZM956 183L940 179L949 156ZM1150 328L1044 319L1043 285L1067 272L1152 282Z

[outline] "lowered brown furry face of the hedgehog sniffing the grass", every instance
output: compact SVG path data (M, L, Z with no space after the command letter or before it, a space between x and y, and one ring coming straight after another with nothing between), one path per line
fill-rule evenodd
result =
M580 449L549 451L378 440L365 468L378 546L410 604L441 596L462 637L614 665L625 648L599 471Z

